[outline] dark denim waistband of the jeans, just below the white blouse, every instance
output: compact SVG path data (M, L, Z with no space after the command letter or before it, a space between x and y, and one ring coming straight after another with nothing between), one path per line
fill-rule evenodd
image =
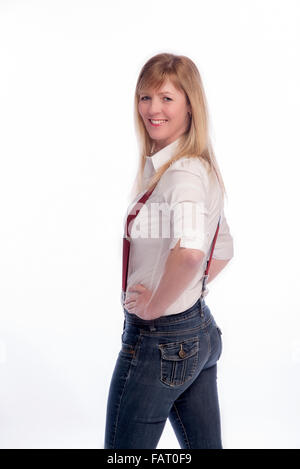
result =
M137 326L142 325L169 325L169 324L178 324L181 321L190 319L201 313L206 306L205 300L203 297L198 298L196 303L190 308L186 309L182 313L169 314L168 316L160 316L156 319L142 319L135 314L129 313L124 307L124 318L128 324L134 324Z

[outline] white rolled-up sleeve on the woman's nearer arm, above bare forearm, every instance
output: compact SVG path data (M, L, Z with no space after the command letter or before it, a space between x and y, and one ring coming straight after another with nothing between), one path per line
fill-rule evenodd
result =
M180 239L180 247L208 250L207 187L201 174L184 169L165 174L165 200L170 210L173 249Z

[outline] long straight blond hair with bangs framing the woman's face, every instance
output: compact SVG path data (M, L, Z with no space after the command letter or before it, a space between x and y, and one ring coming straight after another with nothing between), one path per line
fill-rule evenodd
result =
M173 157L163 164L142 187L142 175L146 156L150 155L154 141L149 136L138 110L139 95L144 89L159 89L166 79L170 79L175 88L185 93L187 103L191 105L191 119L188 129L178 141ZM215 172L221 187L222 197L226 193L221 172L212 148L209 135L209 115L202 79L194 62L183 55L161 53L150 58L142 67L134 96L134 124L140 147L140 159L131 197L142 190L151 190L160 180L168 167L181 157L200 158L206 162L208 172Z

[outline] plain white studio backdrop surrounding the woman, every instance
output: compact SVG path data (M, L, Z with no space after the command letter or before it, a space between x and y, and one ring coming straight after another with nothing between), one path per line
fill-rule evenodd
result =
M235 256L225 448L300 447L297 0L0 0L0 445L103 448L121 344L122 220L151 56L202 75ZM158 448L179 448L167 422Z

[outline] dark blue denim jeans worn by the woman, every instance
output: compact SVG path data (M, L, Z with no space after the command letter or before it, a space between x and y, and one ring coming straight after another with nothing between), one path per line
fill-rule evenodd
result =
M144 320L124 308L105 449L155 449L169 418L180 448L222 449L217 391L221 331L204 299Z

